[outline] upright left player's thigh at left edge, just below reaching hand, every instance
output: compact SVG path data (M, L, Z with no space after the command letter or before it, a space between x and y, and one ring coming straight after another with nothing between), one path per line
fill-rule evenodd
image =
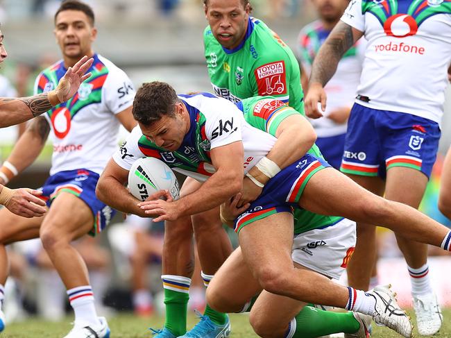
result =
M10 244L39 237L40 226L44 217L46 216L29 219L2 208L0 210L0 242Z

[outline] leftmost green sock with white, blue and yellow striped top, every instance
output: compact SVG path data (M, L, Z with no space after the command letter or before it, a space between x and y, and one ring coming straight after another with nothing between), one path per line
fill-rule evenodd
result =
M176 337L187 332L187 310L189 300L189 283L191 280L182 276L162 276L164 287L164 305L166 320L164 327ZM174 289L180 289L175 291Z

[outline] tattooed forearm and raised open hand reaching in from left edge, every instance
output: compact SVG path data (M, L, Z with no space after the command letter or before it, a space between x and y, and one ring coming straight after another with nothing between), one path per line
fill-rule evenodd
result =
M85 72L91 67L92 62L92 58L88 60L87 56L83 56L74 67L67 69L58 87L48 93L19 99L0 98L0 128L33 119L70 99L75 95L80 84L91 76L91 73L85 74Z

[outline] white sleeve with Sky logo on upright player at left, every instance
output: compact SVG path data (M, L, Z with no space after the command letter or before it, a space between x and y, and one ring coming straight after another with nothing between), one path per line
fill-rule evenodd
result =
M101 56L99 59L110 69L105 85L103 85L105 104L111 112L117 114L133 105L135 87L122 69L116 66L111 67L112 63Z

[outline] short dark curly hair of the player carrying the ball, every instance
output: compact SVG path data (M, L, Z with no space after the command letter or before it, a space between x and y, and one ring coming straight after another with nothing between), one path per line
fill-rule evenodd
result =
M176 91L164 82L143 83L133 101L133 117L140 124L150 126L163 116L176 116L176 103L180 102Z

